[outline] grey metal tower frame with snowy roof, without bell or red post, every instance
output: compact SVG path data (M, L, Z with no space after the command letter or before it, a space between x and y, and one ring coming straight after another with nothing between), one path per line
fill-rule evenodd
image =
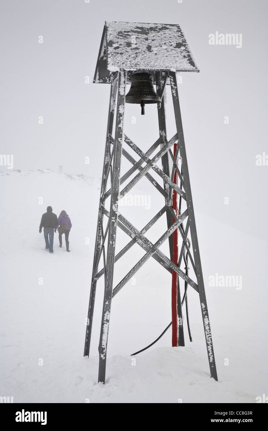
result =
M162 31L162 35L161 35ZM176 32L176 33L174 33ZM200 260L200 253L197 240L197 230L194 217L194 207L191 195L190 178L188 172L187 157L185 151L185 141L182 129L182 117L179 104L178 94L178 83L176 72L172 67L173 63L169 65L168 61L165 63L163 57L161 61L164 64L160 67L156 67L154 59L152 65L148 70L154 75L157 94L162 97L163 92L166 91L165 85L170 84L173 107L175 114L174 127L175 134L172 137L167 137L166 134L166 119L165 119L165 106L162 100L160 109L157 109L158 113L158 127L159 127L159 138L154 142L151 147L144 153L129 137L123 132L124 124L124 111L125 111L125 96L126 96L126 85L129 84L131 73L137 69L145 69L142 64L143 51L146 48L146 44L139 44L141 50L140 57L135 53L136 67L132 66L129 68L129 57L131 60L131 53L129 53L129 34L135 34L136 38L140 38L142 42L143 38L148 38L155 41L157 34L161 37L161 41L165 38L174 47L175 50L168 52L168 61L172 55L174 63L176 63L176 71L191 71L198 72L192 60L191 53L185 41L185 37L179 25L160 25L160 24L143 24L143 23L117 23L117 22L106 22L102 42L99 51L99 59L97 62L94 82L99 83L110 83L110 103L108 113L108 125L106 134L105 144L105 156L102 171L102 184L99 201L99 212L98 212L98 223L97 233L95 239L95 253L94 262L92 269L92 281L89 297L89 309L87 316L86 325L86 340L84 346L84 356L89 356L90 340L92 333L92 319L94 312L95 293L96 286L99 278L104 276L104 299L102 309L102 323L99 340L99 382L105 383L105 370L106 370L106 353L108 343L108 331L111 316L111 303L112 298L122 289L122 287L132 278L132 276L142 267L142 265L152 257L160 263L169 273L176 272L182 280L184 280L186 286L191 286L199 295L200 306L203 318L203 327L205 332L206 349L209 359L210 375L215 380L217 379L216 363L213 352L212 336L209 323L209 315L206 304L206 294L204 288L204 281L202 275L202 267ZM176 38L174 39L174 36ZM169 38L170 37L170 38ZM159 40L159 39L158 39ZM112 44L118 47L121 44L120 54L118 50L113 50ZM147 42L148 45L150 44ZM157 42L159 44L159 42ZM151 42L153 44L153 42ZM151 45L150 45L151 46ZM183 53L178 48L183 46ZM158 46L159 48L159 46ZM146 51L146 49L145 49ZM178 51L178 53L177 53ZM126 53L126 55L124 55ZM166 53L166 50L165 50ZM148 50L145 53L148 58ZM138 58L138 60L137 60ZM141 62L141 65L139 64ZM188 63L187 63L188 62ZM115 71L111 71L111 64L117 66ZM186 66L185 66L186 64ZM182 66L183 65L183 66ZM109 67L110 66L110 67ZM141 66L141 67L140 67ZM159 65L157 65L159 66ZM114 67L114 69L116 69ZM113 126L115 122L115 133L114 137ZM176 144L177 143L177 144ZM175 156L172 153L172 148L176 144ZM134 159L131 154L126 150L126 147L132 148L137 154L138 159ZM152 156L152 154L154 156ZM121 157L124 156L132 164L132 168L120 175ZM178 159L181 162L181 169L178 166ZM157 166L157 161L162 162L162 169ZM154 177L151 176L150 170L156 172L157 175L163 181L164 187L162 187ZM174 172L180 180L179 185L175 184ZM129 177L136 173L136 175L128 181ZM118 211L118 201L122 199L131 189L137 184L141 178L147 178L151 184L156 187L157 191L162 195L160 198L163 199L163 208L139 231L132 223L129 222L120 212ZM108 180L110 182L110 188L108 188ZM177 194L185 203L185 210L176 216L176 213L172 207L172 194L176 191ZM105 207L107 199L110 198L109 208ZM146 237L146 232L154 225L155 222L166 214L167 229L159 237L159 239L152 244ZM104 227L104 217L108 218L106 228ZM129 243L123 247L123 249L115 254L115 242L117 236L117 228L120 228L129 237ZM182 236L182 246L179 253L179 260L177 264L173 263L173 232L178 229L179 234ZM192 253L188 247L187 238L191 235ZM164 255L159 247L165 240L169 240L169 251L170 258ZM145 250L144 256L133 266L133 268L123 277L123 279L116 285L113 285L114 276L114 264L117 262L134 244L139 244ZM187 250L188 256L191 262L191 269L195 275L196 281L192 280L187 269L182 269L182 258L184 250ZM99 269L101 258L103 259L103 267ZM185 292L187 295L187 292ZM183 323L182 323L182 306L180 290L178 289L178 317L179 325L178 329L178 345L184 346L184 335L183 335Z

